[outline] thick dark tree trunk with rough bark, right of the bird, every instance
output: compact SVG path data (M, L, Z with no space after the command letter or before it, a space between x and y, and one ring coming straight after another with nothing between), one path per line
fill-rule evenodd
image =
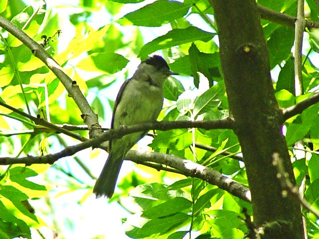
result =
M282 196L272 165L279 153L295 184L283 119L270 77L269 56L260 15L254 0L211 0L218 28L220 58L235 133L242 148L252 196L254 223L284 221L291 234L281 239L303 238L300 205ZM280 47L280 46L278 46Z

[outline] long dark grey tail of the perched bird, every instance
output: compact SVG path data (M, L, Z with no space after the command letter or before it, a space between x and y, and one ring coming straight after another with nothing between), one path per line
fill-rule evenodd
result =
M96 181L93 189L93 193L95 193L96 198L101 196L106 196L108 198L112 197L122 162L123 155L120 157L114 157L112 156L112 152L109 154L100 177Z

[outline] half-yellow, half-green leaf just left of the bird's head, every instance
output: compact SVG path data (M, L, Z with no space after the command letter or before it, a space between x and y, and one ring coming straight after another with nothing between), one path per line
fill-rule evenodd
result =
M102 70L114 74L122 70L129 61L122 55L116 53L92 53L85 57L76 66L85 71Z

